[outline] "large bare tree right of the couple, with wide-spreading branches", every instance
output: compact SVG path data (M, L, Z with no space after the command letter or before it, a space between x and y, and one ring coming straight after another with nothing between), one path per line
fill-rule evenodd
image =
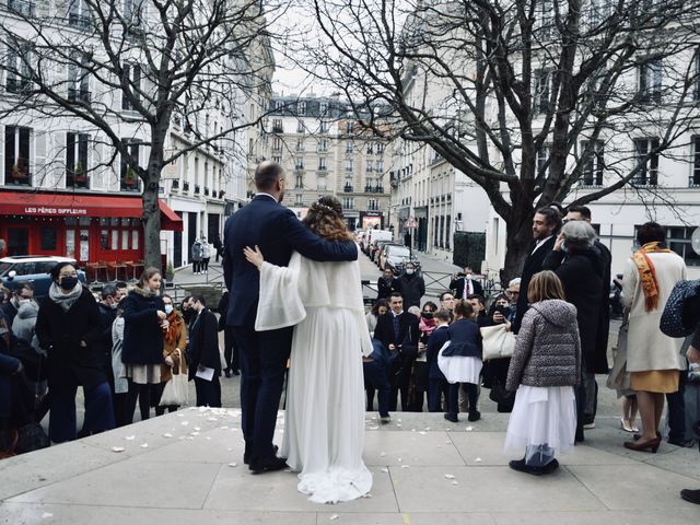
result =
M698 121L696 0L310 1L323 40L300 63L483 188L508 276L537 208L654 187Z

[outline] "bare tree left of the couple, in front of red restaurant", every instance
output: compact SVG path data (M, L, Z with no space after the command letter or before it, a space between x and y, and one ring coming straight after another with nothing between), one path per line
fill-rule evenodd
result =
M268 38L261 5L259 0L7 0L0 19L5 83L0 120L43 120L49 129L79 121L79 128L93 131L90 148L106 153L90 170L109 168L119 176L114 164L120 159L128 180L142 182L145 264L160 267L158 192L164 167L205 145L220 149L259 121L246 119L244 105L245 93L270 80L252 57ZM222 117L218 126L209 115ZM168 147L173 122L187 136L176 149ZM145 165L135 154L139 148L148 152ZM47 161L44 176L54 170ZM79 168L73 163L58 170Z

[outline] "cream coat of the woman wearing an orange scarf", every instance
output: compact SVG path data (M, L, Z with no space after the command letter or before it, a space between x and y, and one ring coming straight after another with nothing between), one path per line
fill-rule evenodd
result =
M675 253L646 254L654 265L658 285L658 307L644 311L644 292L637 265L630 258L622 279L622 303L630 308L627 336L627 371L682 370L680 347L682 338L665 336L660 329L661 314L676 282L686 279L686 265Z

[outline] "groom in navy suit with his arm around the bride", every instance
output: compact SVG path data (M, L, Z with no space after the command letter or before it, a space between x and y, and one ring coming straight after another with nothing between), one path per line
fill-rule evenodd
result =
M322 240L280 205L284 173L279 164L259 164L255 186L255 198L230 217L224 226L223 270L231 290L226 325L233 328L241 352L243 460L253 474L260 474L287 467L284 459L276 455L272 436L293 327L255 331L260 276L245 259L243 248L258 246L265 260L277 266L287 266L293 250L313 260L343 261L355 260L358 248L352 242Z

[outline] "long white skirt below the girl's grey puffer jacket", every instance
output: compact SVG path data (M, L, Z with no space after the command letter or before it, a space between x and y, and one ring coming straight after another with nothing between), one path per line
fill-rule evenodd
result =
M508 423L505 452L548 445L557 453L573 448L576 433L576 400L573 386L521 385Z

